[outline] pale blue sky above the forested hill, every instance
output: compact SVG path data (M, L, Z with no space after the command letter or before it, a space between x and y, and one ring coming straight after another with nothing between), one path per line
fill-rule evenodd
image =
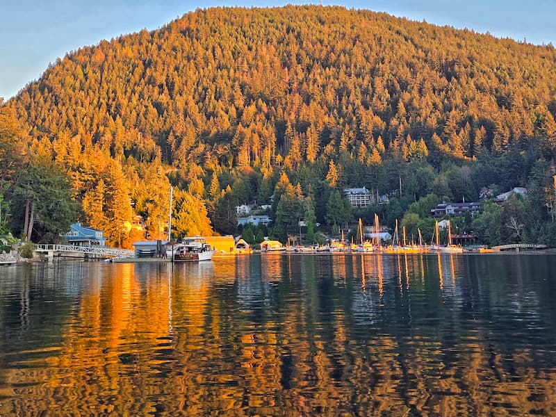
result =
M212 6L284 6L306 1L1 0L0 97L9 99L68 51L122 33L158 28L190 10ZM319 3L313 1L312 3ZM489 31L500 38L556 44L556 0L321 1Z

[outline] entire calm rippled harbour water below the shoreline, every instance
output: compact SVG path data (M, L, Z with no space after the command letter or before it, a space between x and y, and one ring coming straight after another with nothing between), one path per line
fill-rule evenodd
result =
M556 415L556 255L0 268L0 415Z

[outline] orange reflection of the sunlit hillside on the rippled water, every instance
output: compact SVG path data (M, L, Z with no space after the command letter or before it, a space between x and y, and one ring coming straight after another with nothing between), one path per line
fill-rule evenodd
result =
M332 300L322 299L329 269L355 287L360 277L367 299L378 293L393 304L396 278L409 291L415 277L417 291L423 259L113 265L100 279L83 277L59 346L10 363L0 414L555 415L556 373L535 366L533 347L504 352L480 327L439 336L426 324L411 332L354 324L343 309L350 300L335 297L345 285L330 286ZM435 263L448 292L461 259L428 259L434 291ZM279 302L265 298L266 284L280 287L272 288ZM250 309L238 305L240 285L252 296Z

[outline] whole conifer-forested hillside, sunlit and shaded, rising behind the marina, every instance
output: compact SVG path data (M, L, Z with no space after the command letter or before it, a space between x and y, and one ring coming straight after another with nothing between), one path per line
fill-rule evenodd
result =
M496 236L494 220L473 227L488 243L548 242L555 80L551 45L340 7L211 8L73 51L6 106L26 163L58 167L81 220L113 243L134 214L157 236L170 184L174 236L209 233L208 218L236 232L234 206L274 194L270 233L305 219L310 240L316 222L376 211L392 225L409 209L416 227L442 199L528 186L512 203L525 207L521 229L490 212ZM400 182L389 204L334 214L345 186L382 195Z

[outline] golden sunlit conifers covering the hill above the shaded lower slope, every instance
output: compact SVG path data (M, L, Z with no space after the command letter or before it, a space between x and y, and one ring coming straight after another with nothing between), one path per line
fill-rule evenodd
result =
M254 199L270 197L257 188L270 191L281 170L293 179L310 167L304 190L328 179L387 193L389 164L441 170L532 144L551 159L555 60L550 45L368 10L215 8L68 54L0 109L19 118L22 145L53 154L85 218L110 223L109 161L140 202L152 190L140 186L145 164L198 197L211 193L206 175L231 177L225 188L252 167ZM156 230L152 208L135 211Z

